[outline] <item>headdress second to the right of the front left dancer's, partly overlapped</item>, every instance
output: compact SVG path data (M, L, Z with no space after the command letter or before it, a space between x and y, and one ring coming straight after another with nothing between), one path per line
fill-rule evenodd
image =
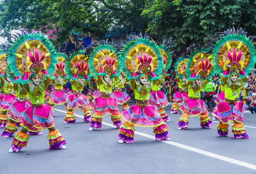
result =
M88 57L84 54L85 51L74 52L65 63L65 72L70 79L76 80L82 78L86 81L90 81Z

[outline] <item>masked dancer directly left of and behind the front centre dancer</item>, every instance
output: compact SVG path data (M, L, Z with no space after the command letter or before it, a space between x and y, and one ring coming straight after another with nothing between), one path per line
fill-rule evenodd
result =
M102 118L108 114L111 115L111 120L116 128L121 126L121 114L117 101L111 97L113 77L119 77L121 68L116 54L116 48L106 44L97 46L90 54L90 72L97 76L96 83L101 94L91 103L94 114L90 123L90 131L93 131L94 128L101 128Z

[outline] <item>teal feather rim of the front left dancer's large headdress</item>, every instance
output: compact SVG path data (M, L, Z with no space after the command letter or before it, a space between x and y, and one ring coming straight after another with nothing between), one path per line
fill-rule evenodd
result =
M15 43L13 43L13 45L9 48L8 54L8 64L9 64L9 68L12 71L12 73L15 75L15 77L23 77L23 74L20 73L20 71L18 71L18 67L16 66L15 60L17 57L15 55L17 48L19 46L21 46L23 43L25 43L26 41L29 40L39 40L41 41L41 43L43 43L49 53L51 54L51 63L49 63L49 68L47 70L48 74L54 74L55 72L55 64L58 62L57 61L57 52L55 51L54 46L52 45L52 43L47 39L47 37L44 34L40 34L40 33L29 33L29 34L23 34L21 37L19 37L17 40L15 40ZM18 83L21 84L25 84L27 83L28 80L23 81L21 78L17 80Z

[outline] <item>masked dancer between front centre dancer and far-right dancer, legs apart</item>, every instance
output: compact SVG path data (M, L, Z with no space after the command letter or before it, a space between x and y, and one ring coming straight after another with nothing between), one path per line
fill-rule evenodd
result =
M201 128L210 128L212 121L208 116L207 105L201 100L201 88L204 88L203 83L207 78L212 77L212 64L209 61L211 54L209 49L201 48L195 50L190 56L186 67L186 74L188 76L188 95L180 106L183 112L177 128L187 129L189 124L189 117L200 117Z

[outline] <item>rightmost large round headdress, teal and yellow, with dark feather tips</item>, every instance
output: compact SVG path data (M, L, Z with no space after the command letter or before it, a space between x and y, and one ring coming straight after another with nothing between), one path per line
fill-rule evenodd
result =
M218 74L224 77L239 74L244 78L250 73L256 63L256 50L250 40L252 37L246 37L246 34L242 28L233 28L210 38L214 46L212 65Z

